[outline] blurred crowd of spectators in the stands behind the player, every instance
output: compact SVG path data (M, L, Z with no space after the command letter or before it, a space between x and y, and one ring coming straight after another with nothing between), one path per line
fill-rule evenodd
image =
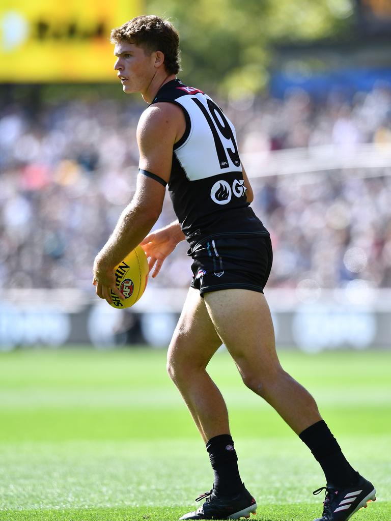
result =
M129 100L129 101L128 101ZM136 126L128 98L0 109L0 287L92 291L92 263L135 190ZM223 103L242 152L391 143L391 91L314 100L294 90ZM391 176L315 172L252 181L252 206L272 234L269 287L391 286ZM156 227L174 220L168 199ZM187 287L179 244L152 284Z

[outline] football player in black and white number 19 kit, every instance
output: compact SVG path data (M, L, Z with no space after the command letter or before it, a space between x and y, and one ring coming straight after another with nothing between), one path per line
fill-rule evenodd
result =
M240 375L307 444L327 485L323 517L345 521L375 489L347 462L306 389L280 366L263 295L272 265L270 235L249 204L253 193L240 161L235 129L199 89L176 79L179 40L156 16L140 16L111 33L115 70L125 93L140 92L149 107L137 128L137 189L94 263L96 294L123 298L114 266L142 244L155 277L186 239L193 280L168 349L168 373L206 443L212 490L196 512L180 519L238 519L256 502L239 475L225 402L206 366L224 342ZM165 187L178 221L149 234L162 210ZM149 235L148 235L149 234Z

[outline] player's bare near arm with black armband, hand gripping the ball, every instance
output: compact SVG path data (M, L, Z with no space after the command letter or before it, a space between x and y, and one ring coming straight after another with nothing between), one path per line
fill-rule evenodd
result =
M167 103L153 105L142 114L137 128L140 169L148 170L166 182L171 171L173 146L180 133L177 110ZM96 294L107 302L111 303L110 290L120 296L115 286L114 267L151 230L162 211L164 195L162 184L139 173L135 196L94 262Z

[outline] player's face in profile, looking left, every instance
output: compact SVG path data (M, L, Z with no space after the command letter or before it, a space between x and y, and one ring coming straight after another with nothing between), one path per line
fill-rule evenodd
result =
M114 54L117 56L114 70L118 72L124 92L145 92L156 72L155 53L148 55L142 47L120 42L115 45Z

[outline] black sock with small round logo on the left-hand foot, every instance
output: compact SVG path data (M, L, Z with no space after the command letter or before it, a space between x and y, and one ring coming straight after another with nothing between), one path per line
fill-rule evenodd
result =
M242 488L242 481L232 438L229 434L215 436L206 443L206 450L214 471L215 492L223 497L237 495Z

